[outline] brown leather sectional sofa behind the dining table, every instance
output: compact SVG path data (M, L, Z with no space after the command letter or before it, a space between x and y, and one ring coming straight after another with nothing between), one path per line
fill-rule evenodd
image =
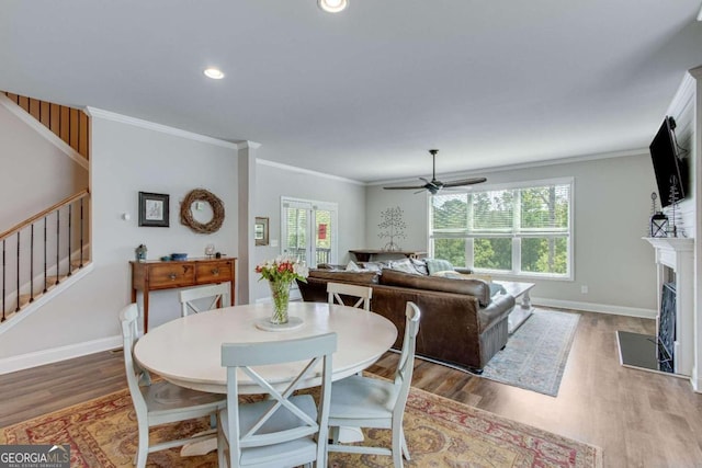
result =
M490 296L480 279L450 279L394 270L346 272L312 270L307 283L297 282L303 300L327 301L327 283L369 285L371 310L389 319L398 330L394 349L400 350L405 333L405 305L421 310L417 354L475 373L507 344L507 316L514 298ZM349 304L351 299L349 299Z

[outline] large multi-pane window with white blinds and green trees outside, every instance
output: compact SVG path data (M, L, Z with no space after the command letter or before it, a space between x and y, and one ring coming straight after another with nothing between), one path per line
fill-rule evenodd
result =
M571 179L433 195L432 255L482 272L569 278L571 205Z

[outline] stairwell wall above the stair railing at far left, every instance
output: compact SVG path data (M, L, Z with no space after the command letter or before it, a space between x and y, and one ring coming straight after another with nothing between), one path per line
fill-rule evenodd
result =
M0 197L11 201L0 209L0 232L88 186L86 169L4 105L0 105Z

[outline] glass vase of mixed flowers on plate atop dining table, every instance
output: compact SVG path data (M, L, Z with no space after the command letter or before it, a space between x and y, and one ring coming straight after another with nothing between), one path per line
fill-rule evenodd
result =
M309 270L303 263L291 256L279 256L273 261L265 261L256 266L260 279L268 279L273 297L273 315L270 319L257 322L257 327L267 330L290 330L302 326L302 319L287 316L290 304L290 287L295 279L306 282Z

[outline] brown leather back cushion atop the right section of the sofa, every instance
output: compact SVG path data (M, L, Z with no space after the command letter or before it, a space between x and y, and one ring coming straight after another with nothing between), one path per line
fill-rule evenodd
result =
M433 276L421 276L398 272L395 270L383 270L378 279L380 284L387 286L403 286L415 289L439 290L442 293L467 294L475 296L480 307L490 304L490 287L482 279L448 279Z

